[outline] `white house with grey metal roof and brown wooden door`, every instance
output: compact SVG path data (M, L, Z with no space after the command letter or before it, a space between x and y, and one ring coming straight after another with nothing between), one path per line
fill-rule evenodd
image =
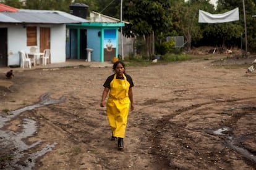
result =
M66 23L82 22L88 20L66 12L0 4L0 67L20 65L20 50L51 49L50 63L66 62Z

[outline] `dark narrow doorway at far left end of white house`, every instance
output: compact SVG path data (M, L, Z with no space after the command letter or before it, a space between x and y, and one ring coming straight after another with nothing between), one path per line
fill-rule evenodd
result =
M0 28L0 67L7 67L7 28Z

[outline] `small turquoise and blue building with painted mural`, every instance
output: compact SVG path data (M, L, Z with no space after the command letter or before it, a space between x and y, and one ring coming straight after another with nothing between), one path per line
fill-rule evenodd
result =
M112 61L118 56L118 30L124 23L67 24L66 59Z

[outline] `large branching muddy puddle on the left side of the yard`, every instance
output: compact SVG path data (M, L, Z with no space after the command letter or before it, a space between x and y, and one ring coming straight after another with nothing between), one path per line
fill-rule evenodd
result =
M11 165L6 165L8 167L4 166L4 168L33 169L33 167L35 166L35 161L41 156L45 155L47 152L50 152L57 145L57 143L54 142L54 144L47 144L38 152L28 153L29 149L34 148L43 142L43 140L38 140L36 142L33 142L32 144L26 144L25 142L26 141L25 139L27 139L28 137L34 136L38 129L38 124L33 119L28 119L28 118L22 119L22 123L19 125L22 129L20 132L1 129L2 127L6 126L9 123L9 121L11 121L16 116L23 113L24 111L33 110L35 108L43 107L46 105L65 102L64 97L61 97L60 99L51 99L49 95L50 93L43 94L41 95L40 101L38 103L20 108L18 110L10 111L8 115L1 116L0 118L0 148L2 148L1 152L8 152L8 155L6 156L12 156Z

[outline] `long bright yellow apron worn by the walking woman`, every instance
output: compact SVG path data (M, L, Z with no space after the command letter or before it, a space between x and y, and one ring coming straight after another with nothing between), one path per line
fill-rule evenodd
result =
M110 83L109 97L106 105L108 121L113 136L121 138L124 138L126 132L130 106L128 94L130 83L127 81L124 74L123 76L124 79L116 79L116 75L114 75L114 79Z

